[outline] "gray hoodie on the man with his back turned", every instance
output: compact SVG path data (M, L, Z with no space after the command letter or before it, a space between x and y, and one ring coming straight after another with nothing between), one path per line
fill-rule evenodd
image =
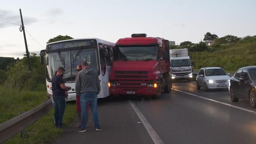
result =
M82 69L77 75L75 83L75 93L80 96L80 93L85 91L95 91L100 93L100 80L98 73L91 68Z

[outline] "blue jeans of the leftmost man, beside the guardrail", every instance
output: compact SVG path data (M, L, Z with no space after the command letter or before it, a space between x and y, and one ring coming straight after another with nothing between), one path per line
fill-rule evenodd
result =
M66 108L66 101L64 96L53 96L51 98L54 104L54 123L55 127L62 128L62 119Z

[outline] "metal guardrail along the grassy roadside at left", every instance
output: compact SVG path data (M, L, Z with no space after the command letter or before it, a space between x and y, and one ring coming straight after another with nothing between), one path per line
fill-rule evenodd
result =
M38 119L42 118L53 108L53 103L51 99L33 108L15 118L12 118L6 122L0 124L0 143L13 137L15 134L21 132L32 123L36 122Z

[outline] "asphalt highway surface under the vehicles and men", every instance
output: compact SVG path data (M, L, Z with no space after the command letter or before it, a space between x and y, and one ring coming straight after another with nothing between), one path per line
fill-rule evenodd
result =
M231 102L227 89L205 92L195 82L173 83L158 100L123 97L100 99L96 132L72 123L60 144L255 144L256 109L249 101Z

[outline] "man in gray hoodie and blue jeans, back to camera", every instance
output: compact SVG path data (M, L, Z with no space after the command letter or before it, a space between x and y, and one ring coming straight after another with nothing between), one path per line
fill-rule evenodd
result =
M97 94L100 93L100 80L98 73L89 68L88 62L82 63L82 70L78 73L75 83L75 93L80 96L81 104L81 128L78 132L86 132L86 107L88 102L90 102L90 108L92 109L95 130L102 130L97 112Z

